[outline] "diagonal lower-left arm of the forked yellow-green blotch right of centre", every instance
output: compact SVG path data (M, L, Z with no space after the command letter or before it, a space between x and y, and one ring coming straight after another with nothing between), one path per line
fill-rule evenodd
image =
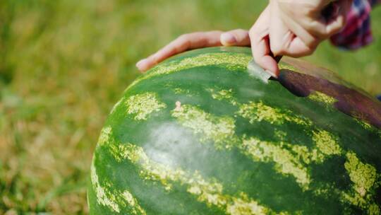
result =
M303 189L308 190L310 175L308 175L307 168L301 165L298 157L294 156L290 151L282 149L282 146L251 137L243 140L241 149L243 153L253 158L254 161L273 161L277 172L293 175L296 182Z

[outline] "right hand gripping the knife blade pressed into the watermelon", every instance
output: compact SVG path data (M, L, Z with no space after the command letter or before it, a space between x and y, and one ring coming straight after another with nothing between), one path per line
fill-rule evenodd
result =
M270 0L250 29L255 62L272 76L279 67L274 56L303 57L344 27L352 0Z

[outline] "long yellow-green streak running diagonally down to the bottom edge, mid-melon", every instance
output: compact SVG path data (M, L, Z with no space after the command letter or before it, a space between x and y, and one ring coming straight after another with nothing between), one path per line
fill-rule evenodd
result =
M206 180L195 171L187 173L181 168L171 168L167 165L152 161L143 148L133 144L126 144L123 153L131 163L138 164L140 175L145 180L161 182L165 190L170 191L172 183L179 182L187 186L187 192L197 196L199 202L205 202L208 206L215 206L225 210L226 214L250 215L273 213L267 207L261 206L248 195L241 192L240 197L232 197L223 194L223 186L217 180ZM281 213L286 214L286 213Z

